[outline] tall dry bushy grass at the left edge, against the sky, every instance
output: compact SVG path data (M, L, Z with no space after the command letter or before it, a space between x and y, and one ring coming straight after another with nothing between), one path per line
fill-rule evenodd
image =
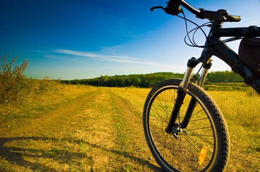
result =
M26 99L43 94L63 94L64 85L60 80L52 80L49 76L39 79L28 79L23 74L28 66L25 59L20 65L14 66L18 56L0 57L0 103L21 104Z

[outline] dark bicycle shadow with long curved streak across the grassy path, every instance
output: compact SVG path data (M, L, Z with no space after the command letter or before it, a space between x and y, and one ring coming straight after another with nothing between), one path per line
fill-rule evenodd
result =
M28 143L26 143L28 141ZM44 148L31 148L33 147L30 145L31 141L38 142L37 145L40 144ZM12 164L19 165L21 167L29 168L31 170L47 170L47 171L56 171L57 169L46 166L44 164L44 161L42 163L39 163L40 160L51 160L54 163L58 164L72 164L73 163L73 169L81 169L81 159L84 158L87 160L87 165L89 165L89 169L93 170L93 160L91 156L88 156L86 153L75 153L70 152L68 150L64 150L61 148L53 149L52 145L50 145L50 142L58 143L58 142L68 142L72 144L86 144L89 147L100 149L106 152L112 152L114 154L123 156L125 158L134 160L135 162L139 163L143 166L148 166L149 168L155 170L155 171L161 171L160 168L157 166L151 164L149 161L135 157L133 155L130 155L128 152L125 151L117 151L112 149L107 149L104 147L101 147L99 145L91 144L89 142L85 142L83 140L77 140L73 138L42 138L42 137L15 137L15 138L0 138L0 157L3 157L5 160L9 161ZM64 145L66 147L66 145ZM68 169L68 170L73 170Z

